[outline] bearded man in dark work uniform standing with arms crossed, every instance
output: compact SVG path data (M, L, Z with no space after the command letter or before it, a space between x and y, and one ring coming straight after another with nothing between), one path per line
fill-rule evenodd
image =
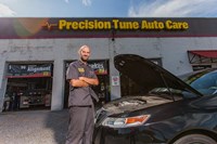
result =
M92 144L94 128L94 105L92 99L99 101L91 86L99 80L87 61L90 48L82 45L78 50L79 60L69 64L66 79L69 82L69 123L66 144Z

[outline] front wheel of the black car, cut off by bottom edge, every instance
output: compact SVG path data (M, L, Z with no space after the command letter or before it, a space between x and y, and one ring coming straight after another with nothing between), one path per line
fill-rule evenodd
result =
M217 144L217 142L207 135L188 134L176 140L174 144Z

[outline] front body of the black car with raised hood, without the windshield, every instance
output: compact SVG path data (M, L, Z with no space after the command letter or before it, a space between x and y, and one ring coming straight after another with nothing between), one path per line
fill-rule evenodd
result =
M94 144L217 143L217 96L204 96L139 55L120 54L114 62L145 94L103 105L95 115Z

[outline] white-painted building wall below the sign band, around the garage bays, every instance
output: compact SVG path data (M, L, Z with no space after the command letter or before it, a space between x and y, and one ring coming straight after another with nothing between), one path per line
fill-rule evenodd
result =
M82 44L91 47L91 60L110 60L111 76L119 75L113 65L113 57L124 53L139 54L146 58L162 58L164 68L179 75L192 70L188 60L188 50L217 50L217 38L1 39L0 107L3 105L5 93L8 63L51 62L54 64L51 110L62 109L65 80L64 62L77 60L77 50ZM120 87L111 86L111 99L117 99L119 95Z

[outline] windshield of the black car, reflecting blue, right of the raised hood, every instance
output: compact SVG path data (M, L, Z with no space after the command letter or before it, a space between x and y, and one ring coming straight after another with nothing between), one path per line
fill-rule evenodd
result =
M179 78L204 95L217 94L217 70L189 73Z

